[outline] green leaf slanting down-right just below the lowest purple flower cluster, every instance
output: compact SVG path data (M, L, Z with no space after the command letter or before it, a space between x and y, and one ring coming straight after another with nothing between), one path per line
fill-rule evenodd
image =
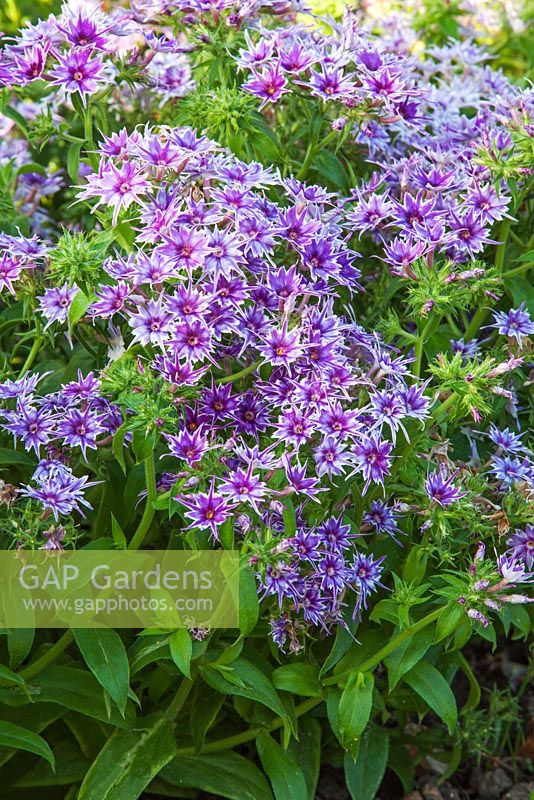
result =
M279 717L286 711L270 680L257 667L244 658L237 658L223 674L210 666L200 668L208 686L222 694L248 697L270 708Z

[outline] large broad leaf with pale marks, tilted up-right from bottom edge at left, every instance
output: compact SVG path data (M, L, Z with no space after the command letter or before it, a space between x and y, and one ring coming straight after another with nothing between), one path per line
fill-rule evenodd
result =
M133 730L117 730L91 765L78 800L138 800L176 753L171 720L154 714Z

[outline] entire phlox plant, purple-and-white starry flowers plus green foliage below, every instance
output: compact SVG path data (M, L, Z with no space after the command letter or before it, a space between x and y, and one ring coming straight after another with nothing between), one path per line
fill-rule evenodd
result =
M6 630L10 786L456 768L464 648L531 631L534 93L447 14L68 2L5 37L2 547L241 558L239 631Z

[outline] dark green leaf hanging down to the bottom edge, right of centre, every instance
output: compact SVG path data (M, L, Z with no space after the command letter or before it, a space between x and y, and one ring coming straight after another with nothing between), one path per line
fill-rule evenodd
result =
M363 737L356 761L345 754L345 779L352 800L373 800L382 783L388 761L389 736L372 725Z

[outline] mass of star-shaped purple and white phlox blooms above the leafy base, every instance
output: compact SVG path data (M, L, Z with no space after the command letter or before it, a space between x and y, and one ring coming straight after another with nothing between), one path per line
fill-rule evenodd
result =
M273 637L297 651L361 618L408 530L449 558L458 519L476 527L468 552L474 514L507 503L501 578L531 568L532 452L504 420L520 430L534 323L519 300L488 325L475 309L503 291L534 100L472 41L418 51L393 17L321 30L271 5L66 3L2 50L0 83L19 89L1 123L0 292L36 338L0 385L0 430L33 470L10 513L53 517L48 549L91 515L102 462L155 455L135 497L159 495L184 537L246 543ZM196 89L224 99L220 140L180 122ZM236 141L245 123L255 150ZM384 319L399 286L407 312ZM52 366L34 373L40 348ZM497 401L499 426L463 428L469 460L450 458L440 426L482 427Z

